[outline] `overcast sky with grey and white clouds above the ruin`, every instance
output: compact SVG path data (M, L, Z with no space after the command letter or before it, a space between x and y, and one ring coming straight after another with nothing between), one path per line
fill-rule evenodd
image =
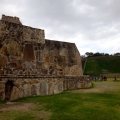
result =
M76 43L80 54L120 52L120 0L0 0L0 15Z

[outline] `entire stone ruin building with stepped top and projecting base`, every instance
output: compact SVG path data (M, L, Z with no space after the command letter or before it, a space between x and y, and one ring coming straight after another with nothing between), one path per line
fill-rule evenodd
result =
M0 100L90 86L74 43L45 39L44 30L22 25L17 17L2 15Z

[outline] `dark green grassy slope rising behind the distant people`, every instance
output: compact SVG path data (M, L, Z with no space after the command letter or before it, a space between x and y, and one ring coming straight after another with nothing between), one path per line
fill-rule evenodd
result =
M101 73L120 73L120 56L91 57L87 59L85 75L99 76Z

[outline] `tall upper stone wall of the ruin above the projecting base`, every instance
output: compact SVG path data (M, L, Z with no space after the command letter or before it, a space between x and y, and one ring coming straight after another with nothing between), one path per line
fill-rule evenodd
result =
M74 43L46 40L44 30L0 21L0 73L82 75Z

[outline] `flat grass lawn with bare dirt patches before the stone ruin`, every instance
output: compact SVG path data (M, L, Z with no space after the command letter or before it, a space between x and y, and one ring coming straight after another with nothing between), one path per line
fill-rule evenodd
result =
M93 82L93 88L0 102L0 120L120 120L120 82Z

